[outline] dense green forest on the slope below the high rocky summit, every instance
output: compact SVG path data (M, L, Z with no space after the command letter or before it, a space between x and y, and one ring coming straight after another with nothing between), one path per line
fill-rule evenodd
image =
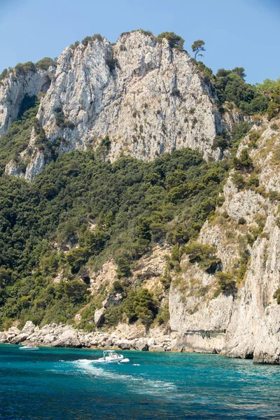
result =
M23 124L31 110L17 124ZM102 144L109 147L109 138ZM124 306L110 309L106 325L124 313L145 325L153 322L157 304L141 286L132 288L130 270L165 237L176 245L169 267L179 265L179 246L197 237L218 203L227 175L224 165L204 162L190 149L153 162L120 158L113 164L91 151L76 151L60 155L34 183L1 176L1 323L18 318L41 324L65 322L87 303L97 307L79 278L85 266L99 269L109 258L118 266L114 290L122 293ZM73 248L58 252L55 242ZM213 266L213 255L204 261L206 269ZM59 273L60 283L53 283ZM90 316L88 311L82 315L86 328L92 328L86 320Z

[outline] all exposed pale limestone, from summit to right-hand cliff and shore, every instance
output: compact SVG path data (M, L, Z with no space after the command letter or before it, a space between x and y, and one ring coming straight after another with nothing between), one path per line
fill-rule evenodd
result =
M38 92L43 93L37 114L40 134L34 127L28 148L20 153L25 172L19 172L17 162L6 165L6 174L25 176L29 181L49 161L44 145L38 147L39 135L41 143L56 144L57 153L89 147L104 161L123 154L153 160L186 147L201 151L207 160L218 160L222 153L213 147L216 135L224 129L230 132L241 119L235 111L219 113L214 87L205 83L186 51L172 49L167 40L158 42L142 31L121 35L115 45L97 36L70 46L48 70L18 75L11 71L0 82L0 134L16 120L24 98ZM223 188L223 205L204 224L197 239L216 249L215 269L207 271L185 253L179 269L171 273L168 291L160 276L165 273L169 246L158 245L150 255L142 256L134 266L132 285L141 283L153 290L160 309L167 307L169 300L170 322L162 330L157 326L147 331L140 323L124 321L116 329L115 342L120 337L146 337L141 346L157 349L156 339L162 334L162 349L218 352L280 363L280 305L274 298L280 287L279 130L279 120L269 123L257 118L241 141L237 160L248 151L250 170L232 169ZM218 272L228 275L234 285L231 290L221 288ZM60 274L54 281L61 280ZM88 269L83 276L92 293L102 290L102 302L94 316L99 328L104 311L123 299L112 292L118 278L116 265L110 260L99 272ZM84 309L76 314L77 324ZM59 345L63 342L59 334L67 331L53 325L50 331L37 332L31 332L36 333L31 338L35 342ZM10 334L10 339L17 335L15 331ZM22 334L24 339L29 337L23 330ZM98 344L93 335L87 341L82 333L71 332L70 336L67 332L69 345ZM9 341L7 337L3 340ZM106 336L104 345L113 345L114 340L109 344L109 339Z

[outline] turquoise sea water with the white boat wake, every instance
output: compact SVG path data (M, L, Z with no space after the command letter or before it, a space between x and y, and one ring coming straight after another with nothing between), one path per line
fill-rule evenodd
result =
M218 355L0 345L0 419L280 419L280 366Z

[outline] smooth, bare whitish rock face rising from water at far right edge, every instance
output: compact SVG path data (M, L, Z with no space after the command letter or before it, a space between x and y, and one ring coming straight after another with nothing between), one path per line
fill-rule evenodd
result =
M225 352L257 361L280 361L280 306L273 298L279 287L280 230L268 218L269 239L257 239L239 302L228 328Z

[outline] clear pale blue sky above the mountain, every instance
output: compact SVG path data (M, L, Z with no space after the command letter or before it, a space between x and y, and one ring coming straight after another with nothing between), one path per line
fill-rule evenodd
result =
M280 0L0 0L0 72L57 57L87 35L116 42L121 32L174 31L215 72L244 66L249 83L280 76Z

